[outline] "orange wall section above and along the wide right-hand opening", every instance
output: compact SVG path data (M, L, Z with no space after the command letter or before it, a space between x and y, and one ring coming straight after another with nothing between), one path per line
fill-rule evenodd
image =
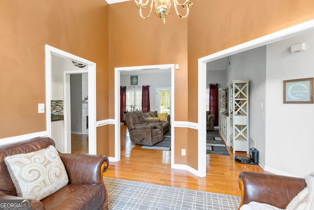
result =
M313 0L194 0L192 9L188 17L190 122L198 122L199 58L314 19ZM197 132L189 132L187 165L192 168L197 161L196 142Z

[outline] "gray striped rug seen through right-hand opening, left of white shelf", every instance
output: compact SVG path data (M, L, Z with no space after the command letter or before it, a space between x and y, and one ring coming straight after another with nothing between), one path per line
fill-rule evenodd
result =
M220 154L230 155L226 145L219 137L217 131L208 131L206 134L206 153L207 154Z

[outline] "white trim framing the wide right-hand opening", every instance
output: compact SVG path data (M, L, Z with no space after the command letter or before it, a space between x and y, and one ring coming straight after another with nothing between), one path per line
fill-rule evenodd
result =
M200 177L206 176L206 63L218 60L227 56L251 50L263 45L274 43L295 36L306 30L313 30L314 20L307 21L284 30L279 30L274 33L262 36L257 39L236 45L234 47L222 50L220 52L205 56L198 60L198 168L200 170Z

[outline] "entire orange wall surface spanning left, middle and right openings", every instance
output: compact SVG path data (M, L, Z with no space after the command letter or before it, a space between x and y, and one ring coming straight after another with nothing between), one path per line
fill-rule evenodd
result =
M37 113L45 103L45 44L97 63L97 120L114 119L114 67L178 63L175 120L197 122L199 58L314 19L313 11L313 0L194 0L188 19L172 12L162 25L155 14L141 19L133 1L1 1L0 138L46 130ZM196 168L190 130L175 131L175 162ZM98 153L114 150L114 126L97 134L98 142L108 139Z

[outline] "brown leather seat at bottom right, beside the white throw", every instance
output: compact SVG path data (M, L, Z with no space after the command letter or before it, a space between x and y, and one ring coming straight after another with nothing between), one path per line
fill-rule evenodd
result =
M306 182L302 178L241 172L239 186L242 197L239 209L251 201L286 209L290 201L306 187Z

